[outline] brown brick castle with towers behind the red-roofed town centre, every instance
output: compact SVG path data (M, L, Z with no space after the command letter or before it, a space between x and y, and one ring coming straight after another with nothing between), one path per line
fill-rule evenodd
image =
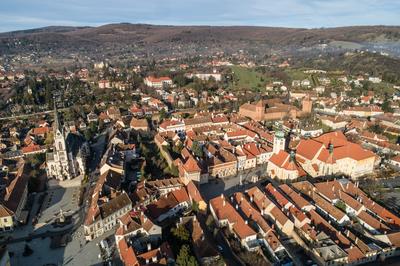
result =
M283 103L280 99L260 100L257 103L245 103L239 107L241 116L250 117L255 121L282 120L284 118L296 118L311 113L312 101L304 98L302 110L289 104Z

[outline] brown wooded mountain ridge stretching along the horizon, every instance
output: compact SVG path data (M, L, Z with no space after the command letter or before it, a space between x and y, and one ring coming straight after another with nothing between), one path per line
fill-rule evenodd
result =
M299 49L331 42L357 44L394 43L400 47L399 26L352 26L339 28L278 28L257 26L161 26L108 24L99 27L51 26L0 33L0 53L35 51L53 54L117 56L135 54L190 55L216 51ZM399 48L400 54L400 48Z

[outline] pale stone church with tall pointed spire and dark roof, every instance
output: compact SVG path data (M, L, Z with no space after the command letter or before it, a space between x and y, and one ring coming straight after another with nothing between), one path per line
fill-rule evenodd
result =
M69 180L84 175L89 155L89 145L84 137L60 125L57 109L54 111L53 130L53 151L46 153L47 176L58 180Z

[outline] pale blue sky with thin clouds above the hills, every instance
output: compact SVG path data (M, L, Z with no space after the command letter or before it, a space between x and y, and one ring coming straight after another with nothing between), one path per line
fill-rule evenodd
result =
M400 0L1 0L0 32L109 23L400 25Z

